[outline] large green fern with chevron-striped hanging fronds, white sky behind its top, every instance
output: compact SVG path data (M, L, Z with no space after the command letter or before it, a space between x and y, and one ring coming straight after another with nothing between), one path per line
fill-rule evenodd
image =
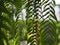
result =
M57 44L54 6L54 0L28 0L26 24L30 45Z

